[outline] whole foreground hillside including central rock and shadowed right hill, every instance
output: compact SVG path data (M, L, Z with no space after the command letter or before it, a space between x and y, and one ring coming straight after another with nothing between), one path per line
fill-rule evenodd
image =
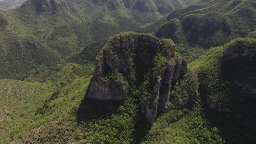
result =
M136 33L119 34L112 37L110 41L113 41L113 46L118 46L115 43L119 42L127 45L123 42L130 43L137 36L142 36L145 42L148 37L151 39L149 42L157 44L154 36ZM166 42L168 45L171 44L170 48L175 50L172 42ZM141 43L134 48L148 49L143 46L144 44ZM166 44L164 44L165 47ZM121 61L134 59L132 61L137 65L136 59L140 59L140 55L137 58L126 59L124 56L128 54L127 52L116 55L115 47L111 49L110 46L107 43L102 49L102 53L105 53L103 59L112 60L121 54L122 57L119 58L124 58L120 59ZM125 48L122 45L119 47ZM106 73L111 71L105 64L103 64L105 66L102 72L106 77L102 75L101 78L97 78L95 77L97 72L94 72L93 79L96 78L101 83L110 84L110 87L112 85L112 87L127 91L122 101L116 101L115 98L102 101L94 96L92 98L96 99L89 98L91 97L90 91L94 87L89 86L89 83L94 83L94 80L89 78L92 72L74 63L62 69L51 68L38 71L25 82L1 80L1 94L3 94L1 95L1 101L3 101L1 107L4 108L1 111L3 119L1 120L1 135L4 137L0 138L1 142L243 143L246 139L246 143L253 143L255 142L253 139L255 135L253 121L256 116L253 111L255 92L250 88L255 87L253 82L256 71L255 48L256 39L237 39L224 47L213 48L205 57L189 64L187 74L180 77L177 83L173 83L174 85L169 85L172 98L169 99L166 111L156 110L156 119L153 124L150 124L152 119L149 119L147 114L143 114L143 108L154 109L154 107L147 106L155 102L154 99L153 101L150 99L154 98L154 91L157 90L154 86L153 91L150 83L157 85L157 82L151 82L147 77L150 76L150 72L153 72L156 75L160 74L158 77L163 78L159 101L157 100L158 104L155 105L155 108L161 108L159 107L161 96L164 96L162 92L168 85L166 83L168 77L166 77L167 73L161 74L158 69L162 69L163 72L166 68L168 69L170 58L168 58L168 52L163 51L164 55L161 55L159 51L160 55L154 56L154 60L161 59L161 61L153 62L156 67L153 67L153 71L150 70L151 68L148 69L149 71L145 72L146 75L141 70L136 70L136 66L134 70L131 69L131 72L128 71L135 75L136 79L132 79L133 76L130 74L125 75L122 65L120 65L121 73L114 76ZM253 53L249 52L244 55L244 51L248 50ZM167 51L172 54L171 49ZM148 52L150 54L151 50ZM136 54L140 54L140 51ZM165 54L167 54L167 61ZM177 55L175 57L179 58ZM103 60L101 54L98 58ZM177 58L169 62L179 61ZM97 68L95 70L98 71ZM230 76L227 77L227 75ZM115 80L115 76L118 81ZM136 86L137 83L140 86ZM121 84L121 87L118 84ZM198 90L197 84L199 84ZM97 91L93 90L93 92ZM187 103L186 101L193 95L196 96L196 101ZM10 103L16 103L15 99L19 101L18 105L9 107ZM154 106L154 103L152 104Z

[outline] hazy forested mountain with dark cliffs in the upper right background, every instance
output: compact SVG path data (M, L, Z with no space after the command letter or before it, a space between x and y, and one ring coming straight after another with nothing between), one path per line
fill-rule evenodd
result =
M255 7L251 0L199 0L170 12L155 36L173 39L178 52L187 60L194 60L210 47L255 31Z

